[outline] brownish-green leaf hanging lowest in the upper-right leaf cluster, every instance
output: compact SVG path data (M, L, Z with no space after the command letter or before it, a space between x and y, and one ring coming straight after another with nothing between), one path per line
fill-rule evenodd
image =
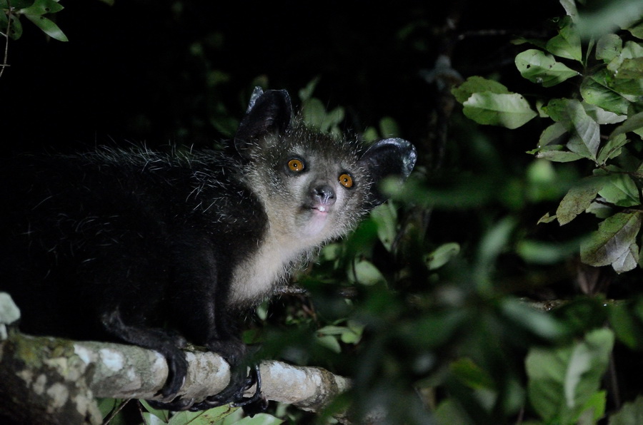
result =
M639 213L616 213L599 224L581 244L581 261L596 267L612 265L617 272L637 266L636 237L641 228Z

